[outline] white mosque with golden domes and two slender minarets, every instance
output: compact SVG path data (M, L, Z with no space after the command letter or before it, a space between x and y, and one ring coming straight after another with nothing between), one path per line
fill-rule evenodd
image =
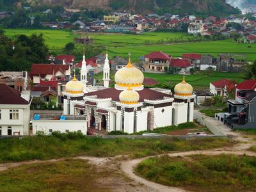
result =
M76 76L66 84L64 115L85 115L88 133L122 131L129 134L193 121L193 87L185 78L170 90L144 88L141 70L129 62L115 74L115 87L109 87L109 60L103 68L104 86L86 86L83 56L81 81Z

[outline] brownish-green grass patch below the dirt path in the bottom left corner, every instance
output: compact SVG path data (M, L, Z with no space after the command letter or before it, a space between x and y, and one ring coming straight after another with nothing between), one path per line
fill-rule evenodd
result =
M111 191L97 182L109 175L78 159L29 164L1 172L0 191Z

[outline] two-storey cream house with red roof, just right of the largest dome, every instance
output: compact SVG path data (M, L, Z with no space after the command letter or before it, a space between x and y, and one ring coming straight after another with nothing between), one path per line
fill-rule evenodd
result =
M172 56L162 51L151 52L144 56L143 67L148 72L164 72L169 67Z

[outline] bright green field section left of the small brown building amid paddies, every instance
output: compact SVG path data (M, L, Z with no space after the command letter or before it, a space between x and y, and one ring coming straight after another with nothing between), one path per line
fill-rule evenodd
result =
M50 50L62 49L68 42L73 42L74 34L68 31L56 29L3 29L8 37L15 35L31 35L33 33L44 35L45 44L49 45Z

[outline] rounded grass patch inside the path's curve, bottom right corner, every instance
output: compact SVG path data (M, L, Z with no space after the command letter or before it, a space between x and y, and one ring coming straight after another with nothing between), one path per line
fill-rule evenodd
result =
M136 167L145 179L189 191L255 191L256 157L152 157Z

